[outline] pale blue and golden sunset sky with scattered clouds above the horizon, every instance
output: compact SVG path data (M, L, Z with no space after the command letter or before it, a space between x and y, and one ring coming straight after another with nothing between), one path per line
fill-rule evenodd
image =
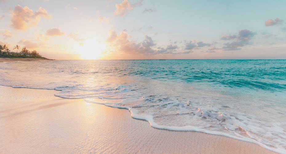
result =
M0 45L49 59L286 59L285 6L285 0L0 0Z

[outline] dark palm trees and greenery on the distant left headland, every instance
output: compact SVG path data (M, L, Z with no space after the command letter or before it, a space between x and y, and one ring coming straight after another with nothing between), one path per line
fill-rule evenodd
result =
M20 46L16 45L14 49L17 49L16 52L11 52L10 49L6 45L0 45L0 58L42 58L46 59L45 57L42 57L36 50L33 50L30 52L26 49L26 47L23 47L22 50L18 53L18 50L20 50Z

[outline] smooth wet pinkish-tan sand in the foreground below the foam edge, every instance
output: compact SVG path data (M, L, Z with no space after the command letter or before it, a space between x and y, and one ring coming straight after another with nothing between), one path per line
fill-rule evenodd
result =
M201 132L150 127L128 110L0 86L0 153L274 153Z

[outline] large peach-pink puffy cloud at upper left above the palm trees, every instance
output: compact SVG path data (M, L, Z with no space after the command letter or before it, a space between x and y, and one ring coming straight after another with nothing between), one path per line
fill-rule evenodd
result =
M36 12L33 12L33 10L29 9L27 6L23 8L20 5L15 7L11 15L12 24L10 26L15 30L22 31L26 31L32 26L37 26L41 17L51 18L51 15L42 7L40 7Z

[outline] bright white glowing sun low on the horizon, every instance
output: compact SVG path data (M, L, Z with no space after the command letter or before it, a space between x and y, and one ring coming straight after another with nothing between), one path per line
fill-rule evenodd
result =
M100 59L102 57L102 53L106 51L106 44L105 42L98 41L93 37L79 43L78 51L82 59Z

